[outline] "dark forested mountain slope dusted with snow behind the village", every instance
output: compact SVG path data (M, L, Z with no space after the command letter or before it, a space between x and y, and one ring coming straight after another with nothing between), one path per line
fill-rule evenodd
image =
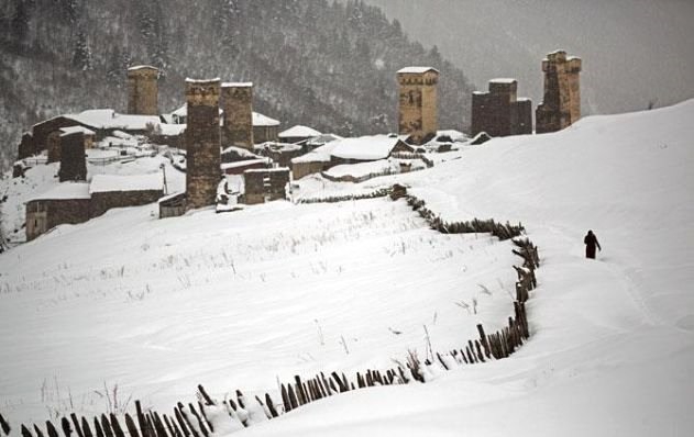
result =
M1 165L21 132L58 113L125 110L125 68L164 70L159 110L186 77L251 80L255 109L339 134L396 128L395 71L441 70L440 122L464 128L469 81L362 1L5 0L0 7Z

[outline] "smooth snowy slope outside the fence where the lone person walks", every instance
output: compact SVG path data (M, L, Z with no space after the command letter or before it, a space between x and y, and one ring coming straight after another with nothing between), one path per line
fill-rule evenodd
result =
M247 435L692 435L692 120L694 101L590 117L400 176L447 220L527 225L543 258L531 341L508 360L329 399ZM597 261L583 258L587 228Z

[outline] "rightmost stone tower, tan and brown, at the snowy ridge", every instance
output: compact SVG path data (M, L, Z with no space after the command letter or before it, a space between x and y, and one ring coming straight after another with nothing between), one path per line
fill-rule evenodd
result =
M558 51L542 59L544 98L536 111L536 132L557 132L581 119L581 58Z

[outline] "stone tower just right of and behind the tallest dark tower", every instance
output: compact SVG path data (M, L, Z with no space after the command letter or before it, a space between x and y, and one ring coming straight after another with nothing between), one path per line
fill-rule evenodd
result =
M223 143L253 149L253 83L222 83Z

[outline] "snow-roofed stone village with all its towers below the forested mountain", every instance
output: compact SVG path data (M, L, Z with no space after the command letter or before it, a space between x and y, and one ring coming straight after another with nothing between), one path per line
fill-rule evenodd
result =
M561 51L551 53L543 59L542 70L544 99L536 110L535 132L560 131L581 116L581 59ZM128 69L128 114L113 110L66 114L41 122L24 134L15 176L23 173L26 158L42 155L46 163L59 163L62 182L26 203L27 239L59 224L85 222L111 208L155 201L159 202L161 217L210 205L218 205L219 211L219 204L230 199L224 194L231 194L220 191L224 175L243 176L243 203L284 199L290 180L394 154L417 156L448 150L452 137L463 135L439 131L439 71L431 67L397 71L397 134L359 138L322 134L307 126L279 132L278 121L253 111L251 82L187 79L186 103L172 113L159 114L158 77L155 67ZM472 99L473 136L533 132L532 103L517 97L515 79L491 80L488 91L474 92ZM89 178L89 148L106 142L123 149L133 135L146 135L151 143L179 150L176 167L186 172L185 192L165 195L161 173Z

